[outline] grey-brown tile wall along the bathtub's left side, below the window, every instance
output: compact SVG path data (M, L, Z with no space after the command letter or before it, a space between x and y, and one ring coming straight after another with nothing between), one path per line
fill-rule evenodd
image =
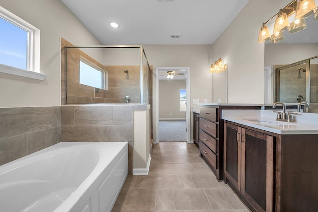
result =
M0 165L61 141L61 107L0 108Z

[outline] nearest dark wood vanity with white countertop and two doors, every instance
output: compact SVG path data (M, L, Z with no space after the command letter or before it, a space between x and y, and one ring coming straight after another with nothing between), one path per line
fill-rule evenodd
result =
M223 110L224 181L250 210L318 210L318 114Z

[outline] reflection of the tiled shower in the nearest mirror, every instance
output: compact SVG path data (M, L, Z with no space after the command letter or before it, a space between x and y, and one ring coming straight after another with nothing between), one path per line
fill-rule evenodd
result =
M318 103L318 56L274 69L275 102Z

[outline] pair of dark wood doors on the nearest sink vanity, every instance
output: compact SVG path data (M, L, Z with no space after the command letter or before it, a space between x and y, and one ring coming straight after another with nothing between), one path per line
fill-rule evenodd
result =
M258 212L273 211L274 137L225 123L225 177Z

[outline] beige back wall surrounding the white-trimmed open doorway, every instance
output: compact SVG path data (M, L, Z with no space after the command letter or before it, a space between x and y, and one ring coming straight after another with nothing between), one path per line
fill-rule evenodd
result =
M209 54L211 45L145 45L144 48L149 64L154 67L154 106L156 106L156 67L190 67L191 107L198 106L197 104L192 104L193 99L199 99L200 103L203 103L204 99L207 99L208 103L211 102L212 74L209 73ZM155 122L156 110L157 108L154 107L152 112L154 117L154 129L156 129L157 126L157 123ZM153 138L156 140L155 131Z

